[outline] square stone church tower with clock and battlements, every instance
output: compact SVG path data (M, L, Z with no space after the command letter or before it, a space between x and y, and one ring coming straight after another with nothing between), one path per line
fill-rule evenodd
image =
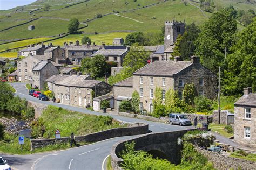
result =
M185 32L185 21L176 22L174 19L170 21L165 21L165 33L164 33L164 50L172 46L178 35Z

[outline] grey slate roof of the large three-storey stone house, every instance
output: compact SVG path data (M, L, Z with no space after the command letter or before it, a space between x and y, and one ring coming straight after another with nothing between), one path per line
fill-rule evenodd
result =
M192 65L190 61L154 61L148 65L138 69L133 75L148 75L148 76L173 76Z

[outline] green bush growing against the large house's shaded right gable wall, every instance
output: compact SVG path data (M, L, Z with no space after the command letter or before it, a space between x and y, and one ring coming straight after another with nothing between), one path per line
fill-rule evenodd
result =
M194 97L196 94L196 89L194 87L194 83L185 84L182 94L182 100L189 105L194 104Z

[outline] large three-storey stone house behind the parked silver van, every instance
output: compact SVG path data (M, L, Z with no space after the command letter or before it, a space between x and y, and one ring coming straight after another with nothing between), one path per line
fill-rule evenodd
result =
M179 61L176 57L174 61L156 61L138 69L133 73L132 88L140 95L140 109L152 112L156 87L163 90L163 101L168 89L177 90L179 97L182 98L186 83L194 83L196 95L204 95L212 99L216 96L215 81L215 74L201 65L198 57L192 56L191 61ZM119 91L122 90L114 89L114 95L122 96Z

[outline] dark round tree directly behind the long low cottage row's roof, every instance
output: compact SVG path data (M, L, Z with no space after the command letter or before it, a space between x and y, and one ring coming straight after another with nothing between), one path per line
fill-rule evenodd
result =
M95 55L91 59L91 76L93 78L103 77L107 70L107 63L105 61L105 56Z

